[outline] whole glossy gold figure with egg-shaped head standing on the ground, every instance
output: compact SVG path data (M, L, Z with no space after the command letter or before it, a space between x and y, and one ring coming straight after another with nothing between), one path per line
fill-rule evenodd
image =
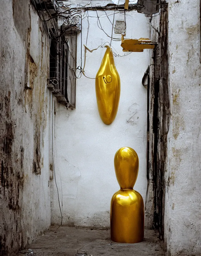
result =
M138 175L139 160L134 149L120 148L114 157L114 168L120 190L111 200L111 239L118 243L139 243L144 238L144 203L133 190Z

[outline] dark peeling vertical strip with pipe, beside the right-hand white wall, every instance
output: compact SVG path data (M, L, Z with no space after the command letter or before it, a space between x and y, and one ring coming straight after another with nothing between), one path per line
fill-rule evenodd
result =
M150 132L149 168L145 220L148 227L159 231L164 238L165 171L167 135L170 119L170 95L168 80L168 8L163 5L160 14L149 18L151 40L156 47L151 53L150 65Z

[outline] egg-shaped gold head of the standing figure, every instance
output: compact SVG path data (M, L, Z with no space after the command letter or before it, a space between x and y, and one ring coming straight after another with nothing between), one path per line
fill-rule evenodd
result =
M135 185L139 159L131 147L120 148L114 156L116 179L121 189L132 189Z

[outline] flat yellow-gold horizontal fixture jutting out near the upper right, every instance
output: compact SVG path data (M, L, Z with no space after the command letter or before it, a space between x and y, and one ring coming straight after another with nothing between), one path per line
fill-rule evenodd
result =
M144 49L154 49L155 45L148 38L124 39L122 33L121 47L123 48L123 51L143 52Z

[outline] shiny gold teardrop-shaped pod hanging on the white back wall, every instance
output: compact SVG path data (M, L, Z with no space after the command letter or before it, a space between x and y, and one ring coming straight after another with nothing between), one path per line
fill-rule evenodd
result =
M120 98L120 77L114 65L114 57L107 47L96 75L96 99L102 121L109 125L116 117Z

